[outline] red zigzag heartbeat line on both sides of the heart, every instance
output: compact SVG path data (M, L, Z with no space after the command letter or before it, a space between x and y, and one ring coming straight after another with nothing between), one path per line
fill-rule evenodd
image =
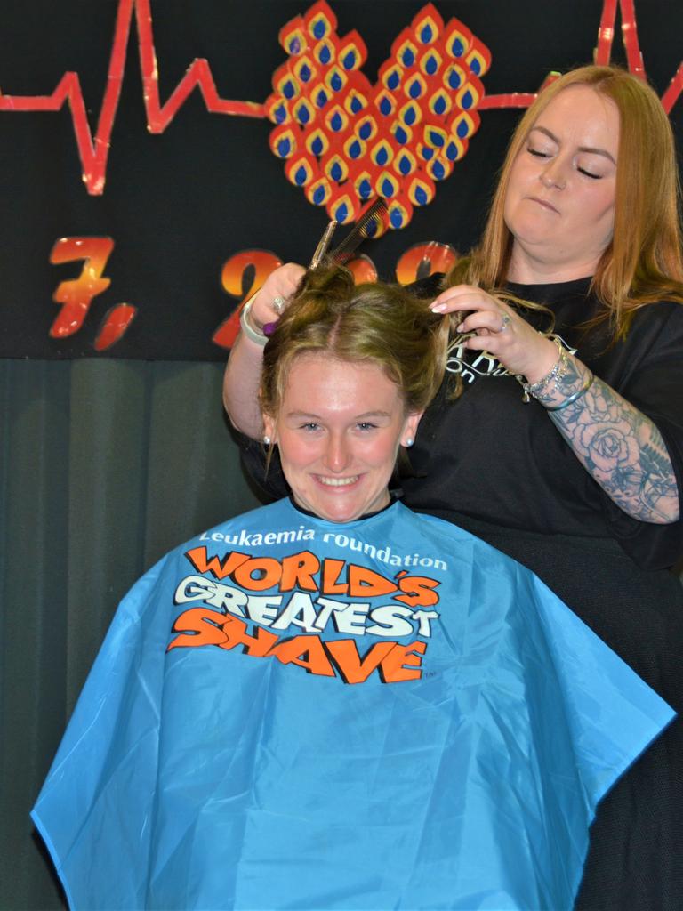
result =
M596 63L608 64L615 34L617 4L621 9L622 40L627 53L629 70L645 78L643 56L638 44L635 0L603 0L602 16L597 32ZM97 132L93 138L87 121L86 104L77 73L65 73L59 80L52 95L2 95L0 111L59 111L68 103L74 124L78 154L83 168L83 181L88 193L100 195L105 189L109 140L117 115L118 99L121 94L130 24L136 14L138 28L138 53L142 72L143 100L150 133L163 133L168 124L187 101L190 93L199 87L204 104L210 114L231 114L238 117L265 118L262 104L253 101L230 101L219 96L211 75L209 62L195 59L187 73L178 82L165 104L158 94L157 55L152 28L151 0L119 0L114 43L109 59L107 88L97 121ZM667 91L661 98L662 106L669 113L678 97L683 93L683 62L678 66ZM511 92L504 95L484 96L480 109L503 107L529 107L535 93Z

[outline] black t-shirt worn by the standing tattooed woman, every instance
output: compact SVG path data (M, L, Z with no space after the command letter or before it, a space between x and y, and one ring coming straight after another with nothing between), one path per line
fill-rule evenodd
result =
M415 291L433 297L438 281L430 276ZM576 356L658 425L683 495L683 306L661 302L642 308L626 341L610 345L607 322L589 332L581 328L599 306L589 284L589 279L510 284L509 290L545 304L555 316L553 331ZM548 328L547 314L527 311L525 318ZM446 374L424 415L410 451L413 473L402 478L407 506L505 528L611 537L644 568L670 567L678 559L683 523L660 526L628 517L586 472L543 405L525 404L520 384L494 358L454 351L449 369L463 375L464 392L449 398L453 373ZM245 460L262 483L259 444L245 443ZM266 487L275 496L286 491L277 463Z

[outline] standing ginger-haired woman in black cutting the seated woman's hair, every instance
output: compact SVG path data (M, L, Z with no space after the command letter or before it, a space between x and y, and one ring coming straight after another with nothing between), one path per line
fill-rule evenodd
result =
M270 276L230 355L225 405L254 440L262 327L301 274ZM403 501L534 570L680 714L683 261L657 95L617 67L546 87L515 130L481 243L414 290L457 315ZM259 448L246 458L262 480ZM274 470L270 486L281 492ZM681 726L598 807L576 907L680 907Z

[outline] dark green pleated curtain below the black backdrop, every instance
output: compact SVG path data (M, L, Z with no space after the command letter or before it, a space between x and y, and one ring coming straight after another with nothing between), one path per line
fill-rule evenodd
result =
M118 600L258 505L219 363L0 361L0 909L62 907L28 812Z

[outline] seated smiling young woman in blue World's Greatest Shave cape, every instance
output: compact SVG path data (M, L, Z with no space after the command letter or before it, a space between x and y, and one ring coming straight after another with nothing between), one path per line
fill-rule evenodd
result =
M117 610L33 816L73 908L569 908L666 703L526 568L393 501L448 318L311 271L266 346L292 496Z

